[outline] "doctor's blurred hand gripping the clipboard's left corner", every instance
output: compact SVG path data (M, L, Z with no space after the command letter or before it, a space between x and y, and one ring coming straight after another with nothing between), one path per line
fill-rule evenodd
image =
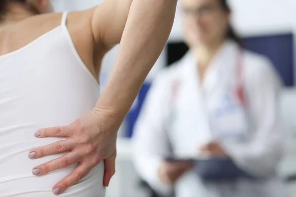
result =
M191 162L162 162L158 169L159 179L163 183L174 184L178 178L193 165Z

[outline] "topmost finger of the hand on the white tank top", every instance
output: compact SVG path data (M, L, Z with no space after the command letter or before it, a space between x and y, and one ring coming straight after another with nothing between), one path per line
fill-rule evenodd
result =
M35 137L70 137L73 133L73 126L63 126L63 127L51 127L46 129L38 130L34 135Z

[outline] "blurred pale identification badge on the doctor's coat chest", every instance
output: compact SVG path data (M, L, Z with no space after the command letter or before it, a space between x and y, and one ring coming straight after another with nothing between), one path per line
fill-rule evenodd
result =
M226 96L211 113L212 131L215 137L241 136L247 131L247 117L241 103Z

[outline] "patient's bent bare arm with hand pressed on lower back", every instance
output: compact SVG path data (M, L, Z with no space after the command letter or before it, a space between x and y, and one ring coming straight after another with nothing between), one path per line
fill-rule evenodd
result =
M90 10L94 42L110 47L120 41L120 47L109 81L94 110L71 125L37 131L39 138L68 139L30 151L36 153L34 159L71 151L36 166L34 169L41 171L38 176L79 163L53 187L55 194L79 182L103 160L104 185L109 185L115 170L117 130L168 39L176 5L177 0L105 0Z

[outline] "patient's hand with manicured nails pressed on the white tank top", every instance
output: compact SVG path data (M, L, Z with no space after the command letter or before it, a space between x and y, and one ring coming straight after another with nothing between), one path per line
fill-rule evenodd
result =
M71 174L52 188L53 193L58 195L79 182L93 167L104 161L104 186L108 186L115 172L116 137L120 126L120 123L115 123L112 117L111 110L95 108L68 126L37 131L35 136L38 138L67 137L67 139L31 150L30 159L70 152L34 167L32 173L42 176L68 165L78 164Z

